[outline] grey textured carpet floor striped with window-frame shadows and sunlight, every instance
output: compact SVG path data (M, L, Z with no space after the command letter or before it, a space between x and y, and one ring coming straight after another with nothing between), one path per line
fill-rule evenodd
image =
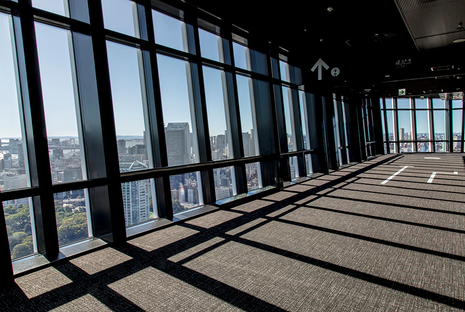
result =
M19 277L0 309L464 311L464 156L386 155L295 184Z

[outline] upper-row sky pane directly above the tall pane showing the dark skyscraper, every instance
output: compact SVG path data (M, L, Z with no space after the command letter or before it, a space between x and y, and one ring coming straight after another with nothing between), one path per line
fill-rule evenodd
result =
M174 17L152 10L155 42L159 45L188 52L186 25Z

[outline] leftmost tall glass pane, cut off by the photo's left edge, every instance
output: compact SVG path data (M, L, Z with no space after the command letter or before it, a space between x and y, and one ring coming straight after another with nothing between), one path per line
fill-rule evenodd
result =
M30 186L11 17L0 13L0 191Z

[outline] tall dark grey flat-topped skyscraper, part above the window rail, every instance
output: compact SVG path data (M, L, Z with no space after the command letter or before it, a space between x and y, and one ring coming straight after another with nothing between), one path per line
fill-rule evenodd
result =
M166 153L168 165L186 165L191 163L189 124L187 122L169 122L165 127Z

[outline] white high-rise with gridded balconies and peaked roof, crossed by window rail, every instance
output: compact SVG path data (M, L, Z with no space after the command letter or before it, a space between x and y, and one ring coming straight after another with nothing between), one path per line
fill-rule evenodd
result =
M148 166L140 163L120 163L119 171L136 171L148 169ZM123 193L124 220L126 226L147 221L150 219L150 180L139 180L121 183Z

